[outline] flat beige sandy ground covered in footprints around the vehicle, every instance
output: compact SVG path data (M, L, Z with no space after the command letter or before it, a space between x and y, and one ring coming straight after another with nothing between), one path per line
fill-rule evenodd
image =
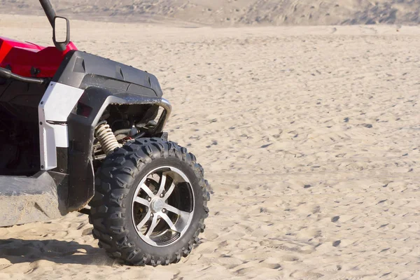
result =
M420 27L72 28L158 76L214 189L207 230L153 268L106 258L83 215L0 228L0 279L420 279ZM50 44L45 18L0 34Z

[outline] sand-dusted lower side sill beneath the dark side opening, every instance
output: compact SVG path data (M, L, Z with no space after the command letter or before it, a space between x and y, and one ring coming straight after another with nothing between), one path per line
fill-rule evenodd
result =
M67 214L66 181L66 175L55 172L39 172L34 177L0 176L0 227Z

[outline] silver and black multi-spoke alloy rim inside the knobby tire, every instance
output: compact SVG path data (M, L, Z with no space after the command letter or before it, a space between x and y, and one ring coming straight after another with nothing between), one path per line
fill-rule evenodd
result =
M186 174L175 167L158 167L141 179L134 192L132 222L147 244L169 246L188 230L194 209L194 192Z

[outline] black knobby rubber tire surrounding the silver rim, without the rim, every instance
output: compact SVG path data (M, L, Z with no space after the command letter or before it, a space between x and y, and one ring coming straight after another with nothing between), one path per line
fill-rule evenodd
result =
M174 244L156 247L139 237L132 222L132 200L139 179L162 165L182 169L195 193L195 209L188 230ZM204 170L193 154L178 144L160 138L138 139L109 155L95 177L90 202L92 234L112 258L126 265L169 265L186 257L204 232L209 209Z

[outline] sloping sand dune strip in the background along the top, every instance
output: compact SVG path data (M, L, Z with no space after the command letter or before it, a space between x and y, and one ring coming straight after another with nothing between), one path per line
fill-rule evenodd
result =
M372 25L420 23L416 0L55 0L71 18L178 25ZM38 1L3 0L0 13L41 14Z

